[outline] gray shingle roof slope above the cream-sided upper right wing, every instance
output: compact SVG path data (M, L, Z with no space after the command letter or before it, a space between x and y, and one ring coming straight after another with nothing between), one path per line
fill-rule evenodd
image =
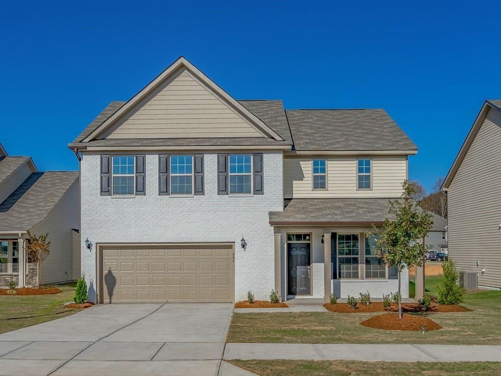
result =
M416 150L383 109L287 110L296 150Z

